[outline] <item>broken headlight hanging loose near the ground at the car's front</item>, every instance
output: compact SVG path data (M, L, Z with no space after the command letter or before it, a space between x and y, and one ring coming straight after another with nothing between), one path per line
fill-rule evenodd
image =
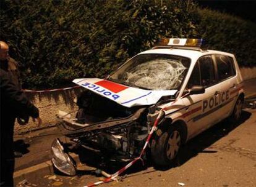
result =
M64 148L58 138L51 145L51 156L51 161L56 169L67 175L74 176L76 174L75 163L67 153L64 153Z

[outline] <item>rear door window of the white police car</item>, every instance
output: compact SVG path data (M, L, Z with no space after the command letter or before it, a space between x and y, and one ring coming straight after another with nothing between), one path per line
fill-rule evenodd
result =
M220 80L234 76L234 66L227 56L215 55Z

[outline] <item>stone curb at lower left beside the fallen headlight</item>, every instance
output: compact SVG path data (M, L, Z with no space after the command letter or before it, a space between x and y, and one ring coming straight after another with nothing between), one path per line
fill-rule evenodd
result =
M71 153L70 156L75 160L75 162L79 162L79 156L77 154ZM30 178L42 178L45 175L53 174L53 163L51 161L45 161L41 164L33 165L32 167L14 172L14 183L17 185L20 181L25 179L30 181Z

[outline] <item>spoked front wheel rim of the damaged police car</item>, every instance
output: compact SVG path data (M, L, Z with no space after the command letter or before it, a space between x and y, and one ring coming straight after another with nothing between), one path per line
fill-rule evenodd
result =
M171 134L168 140L166 154L169 160L174 159L176 157L177 152L179 151L179 146L181 145L181 135L177 130Z

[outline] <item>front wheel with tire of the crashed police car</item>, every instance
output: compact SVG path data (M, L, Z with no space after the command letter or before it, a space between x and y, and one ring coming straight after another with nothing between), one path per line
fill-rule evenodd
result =
M182 143L182 132L176 125L162 132L156 131L155 138L151 142L151 159L158 165L167 167L176 160Z

